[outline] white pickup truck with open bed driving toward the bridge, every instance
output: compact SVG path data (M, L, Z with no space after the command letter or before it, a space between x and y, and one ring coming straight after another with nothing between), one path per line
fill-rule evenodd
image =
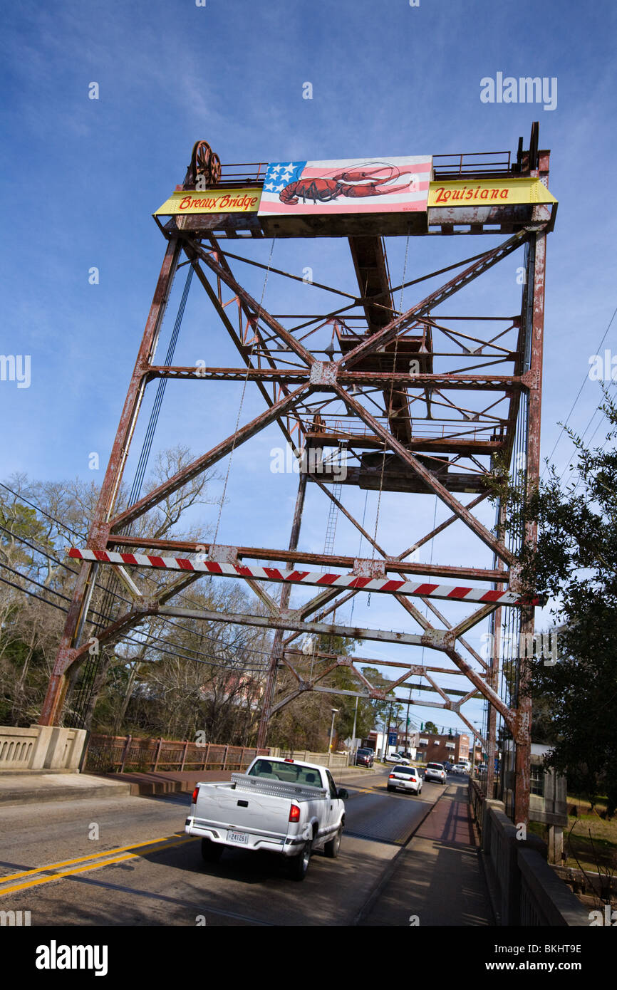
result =
M257 756L230 783L197 784L184 831L201 836L206 860L226 846L278 852L291 876L303 880L315 849L339 854L348 797L323 766Z

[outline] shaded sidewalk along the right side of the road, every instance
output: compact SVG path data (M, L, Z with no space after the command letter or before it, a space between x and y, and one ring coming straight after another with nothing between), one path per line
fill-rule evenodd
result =
M360 925L418 925L422 931L494 924L466 787L449 784L393 860Z

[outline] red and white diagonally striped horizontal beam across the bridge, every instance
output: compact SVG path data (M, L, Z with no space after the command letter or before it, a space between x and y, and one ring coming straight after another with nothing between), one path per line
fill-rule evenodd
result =
M360 577L357 574L323 574L317 570L279 570L277 567L247 566L240 563L220 563L216 560L188 560L186 557L161 557L147 553L117 553L112 550L88 550L71 547L68 556L98 563L131 564L134 567L154 567L158 570L197 571L224 577L250 577L259 581L281 581L318 587L359 588L362 591L412 595L419 598L443 598L460 602L482 602L495 605L545 605L545 596L524 599L514 591L485 591L452 584L430 584L420 581L393 580L387 577Z

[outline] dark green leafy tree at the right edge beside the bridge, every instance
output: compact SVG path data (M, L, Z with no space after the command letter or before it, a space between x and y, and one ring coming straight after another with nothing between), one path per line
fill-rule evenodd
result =
M551 655L530 659L531 690L543 734L552 745L548 764L567 773L593 802L606 795L617 808L617 406L605 392L608 422L603 446L589 448L571 431L572 474L566 488L554 467L524 497L507 479L500 491L511 506L510 526L538 525L536 550L521 553L528 593L555 600ZM538 724L536 724L536 736Z

